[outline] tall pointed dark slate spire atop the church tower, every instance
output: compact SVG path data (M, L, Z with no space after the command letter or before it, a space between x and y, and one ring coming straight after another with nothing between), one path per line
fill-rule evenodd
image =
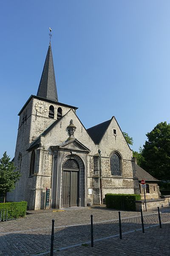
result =
M53 56L51 51L51 42L49 44L47 56L45 58L45 64L42 71L37 96L58 102Z

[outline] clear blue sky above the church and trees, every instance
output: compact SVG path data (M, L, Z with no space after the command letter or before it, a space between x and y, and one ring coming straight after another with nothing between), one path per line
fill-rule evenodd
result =
M114 115L133 150L170 122L169 0L6 0L0 6L0 157L38 85L53 29L59 102L86 128Z

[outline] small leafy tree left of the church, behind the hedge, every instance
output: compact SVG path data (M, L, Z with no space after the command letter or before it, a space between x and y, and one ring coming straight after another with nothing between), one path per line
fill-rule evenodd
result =
M14 163L10 161L10 157L6 152L0 159L0 194L4 196L4 203L6 200L6 193L15 188L15 183L20 179L20 172L15 171Z

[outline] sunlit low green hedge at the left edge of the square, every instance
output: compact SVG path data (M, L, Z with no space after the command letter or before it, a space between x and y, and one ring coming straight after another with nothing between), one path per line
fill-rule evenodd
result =
M0 210L8 210L8 218L19 218L26 215L27 202L0 203ZM5 213L6 214L6 213Z

